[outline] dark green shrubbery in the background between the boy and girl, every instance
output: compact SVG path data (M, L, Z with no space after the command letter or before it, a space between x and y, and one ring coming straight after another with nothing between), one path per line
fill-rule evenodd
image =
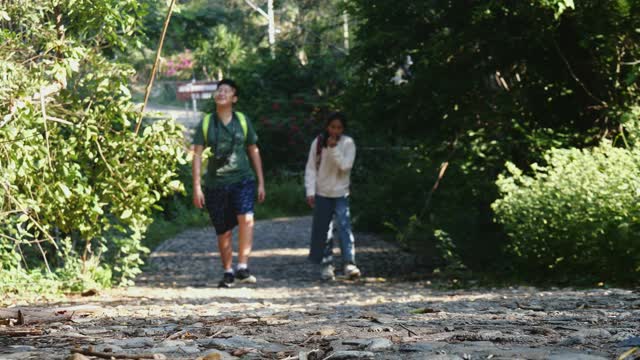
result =
M248 59L235 70L241 87L237 108L253 116L265 169L304 169L311 141L343 90L338 62L314 58L303 65L290 48L279 48L276 60Z

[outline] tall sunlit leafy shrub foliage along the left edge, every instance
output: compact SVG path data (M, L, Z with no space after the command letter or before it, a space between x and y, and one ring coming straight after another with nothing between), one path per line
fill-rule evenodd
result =
M173 122L133 131L132 70L104 56L125 44L118 35L132 31L136 13L125 10L136 2L2 9L11 19L0 22L2 268L46 271L59 289L127 283L147 251L151 211L179 188L175 168L184 162Z

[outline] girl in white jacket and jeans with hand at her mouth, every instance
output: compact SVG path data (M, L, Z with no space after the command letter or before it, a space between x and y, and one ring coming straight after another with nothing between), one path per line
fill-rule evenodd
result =
M345 127L342 113L329 115L325 131L311 143L304 174L307 203L313 208L309 260L322 264L323 280L335 279L330 229L334 217L345 264L344 274L349 278L360 276L355 261L348 198L356 145L351 137L343 134Z

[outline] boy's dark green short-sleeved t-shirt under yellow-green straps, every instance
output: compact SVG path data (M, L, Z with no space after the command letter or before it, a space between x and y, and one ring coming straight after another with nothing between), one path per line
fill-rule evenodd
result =
M193 137L194 145L204 146L203 120L204 117L200 119L196 127ZM209 157L207 172L204 176L204 186L216 187L237 183L247 178L255 179L255 174L247 155L247 145L254 145L258 142L258 135L251 121L247 118L247 137L245 139L240 120L238 120L235 112L227 125L218 120L216 113L211 114L209 130L207 131L207 147L210 147L212 152L215 149L216 131L218 131L218 154L228 154L229 156L228 159L220 160L216 159L214 155ZM232 136L236 138L235 144L233 144ZM232 145L233 150L231 150Z

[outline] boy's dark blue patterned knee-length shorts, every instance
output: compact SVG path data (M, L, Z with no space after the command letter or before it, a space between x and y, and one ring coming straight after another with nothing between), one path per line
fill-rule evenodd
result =
M238 215L253 214L256 182L245 179L237 183L205 189L205 206L216 234L224 234L238 225Z

